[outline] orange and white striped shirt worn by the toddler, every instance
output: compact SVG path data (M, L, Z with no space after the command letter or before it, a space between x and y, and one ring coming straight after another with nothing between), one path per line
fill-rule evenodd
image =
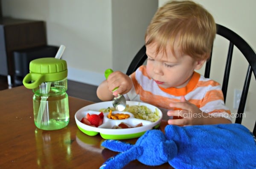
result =
M162 88L151 79L146 67L140 66L130 75L133 87L125 94L127 100L140 101L160 108L163 113L171 109L170 102L180 102L180 96L198 106L201 111L215 117L225 117L231 120L230 110L225 106L221 86L214 80L205 78L194 72L189 83L183 88Z

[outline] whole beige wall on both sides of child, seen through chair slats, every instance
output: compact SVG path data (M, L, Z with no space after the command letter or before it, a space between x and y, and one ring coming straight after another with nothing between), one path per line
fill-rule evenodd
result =
M144 43L144 32L158 5L166 0L2 0L3 16L45 20L50 45L66 46L68 78L98 85L107 68L125 72ZM255 0L196 0L215 17L216 23L233 29L255 49ZM217 38L211 78L221 83L220 61L226 44ZM242 68L247 66L235 49L227 106L233 108L234 89L241 89ZM253 77L243 124L253 129L256 120L256 83Z

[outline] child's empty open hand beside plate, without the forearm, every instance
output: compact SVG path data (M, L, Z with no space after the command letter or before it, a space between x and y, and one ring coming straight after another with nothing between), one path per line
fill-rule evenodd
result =
M208 114L202 112L197 106L189 103L184 96L180 97L180 102L170 103L171 108L176 108L180 110L169 110L167 112L168 116L178 116L183 117L181 119L170 119L168 124L187 126L187 125L201 125L203 124L204 117Z

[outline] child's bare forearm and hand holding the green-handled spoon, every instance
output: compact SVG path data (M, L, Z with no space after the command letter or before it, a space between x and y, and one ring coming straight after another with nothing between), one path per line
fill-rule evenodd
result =
M115 92L113 89L119 87ZM112 100L114 95L125 94L131 90L131 78L119 71L113 72L97 88L97 96L102 101Z

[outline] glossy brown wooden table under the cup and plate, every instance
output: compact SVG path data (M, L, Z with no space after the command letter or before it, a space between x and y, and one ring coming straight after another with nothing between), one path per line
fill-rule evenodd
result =
M76 111L93 102L69 97L69 125L44 131L35 127L32 96L32 90L24 86L0 91L0 169L99 169L105 160L117 154L100 146L104 140L100 135L85 135L76 126ZM135 160L125 169L172 167L168 163L145 166Z

